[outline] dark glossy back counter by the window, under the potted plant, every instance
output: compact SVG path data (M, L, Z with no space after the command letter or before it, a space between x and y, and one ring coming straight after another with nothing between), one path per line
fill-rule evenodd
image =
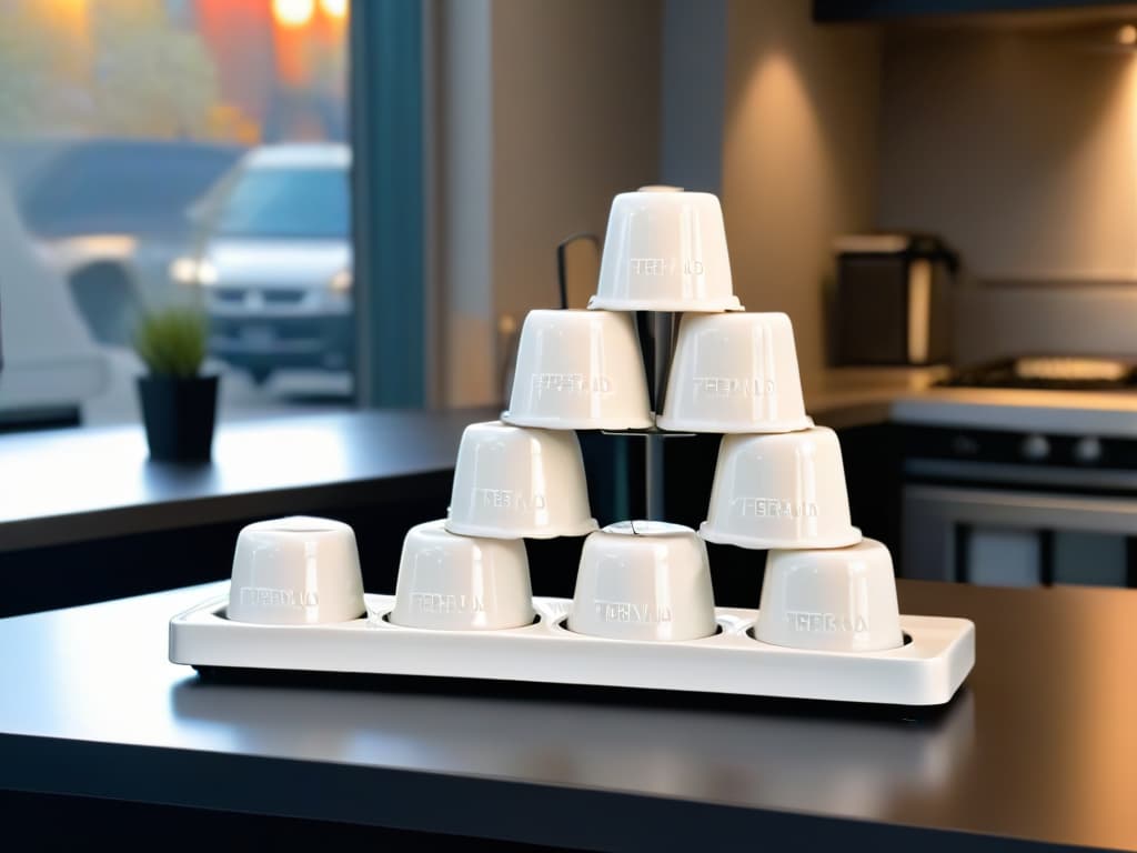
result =
M148 459L139 425L0 437L0 553L351 503L451 471L498 409L380 411L222 424L208 465ZM354 494L352 494L354 492Z

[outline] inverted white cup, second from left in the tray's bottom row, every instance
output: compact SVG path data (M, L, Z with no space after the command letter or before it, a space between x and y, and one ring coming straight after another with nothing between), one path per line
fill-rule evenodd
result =
M391 622L491 631L530 624L533 616L525 543L458 536L442 521L407 532Z

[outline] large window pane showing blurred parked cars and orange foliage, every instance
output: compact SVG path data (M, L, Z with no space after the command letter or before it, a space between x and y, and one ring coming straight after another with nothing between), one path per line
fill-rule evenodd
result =
M347 0L0 0L0 430L136 422L200 306L221 416L346 408Z

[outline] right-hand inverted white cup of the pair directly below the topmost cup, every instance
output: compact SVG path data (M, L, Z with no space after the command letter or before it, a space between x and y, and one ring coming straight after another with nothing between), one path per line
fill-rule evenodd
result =
M805 414L794 328L785 314L686 314L661 429L789 432Z

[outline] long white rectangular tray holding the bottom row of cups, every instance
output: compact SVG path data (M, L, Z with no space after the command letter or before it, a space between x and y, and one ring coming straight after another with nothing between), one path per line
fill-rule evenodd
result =
M367 616L319 626L225 619L227 598L174 616L169 660L193 666L429 676L778 696L889 705L940 705L976 660L965 619L901 616L908 641L873 653L805 652L748 632L757 611L717 607L720 631L699 640L644 643L573 633L572 602L534 598L538 619L503 631L437 631L387 621L395 597L367 595Z

